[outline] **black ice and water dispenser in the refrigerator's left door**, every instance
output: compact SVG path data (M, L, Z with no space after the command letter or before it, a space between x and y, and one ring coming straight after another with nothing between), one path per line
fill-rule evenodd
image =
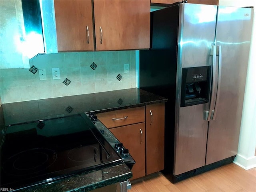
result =
M208 102L210 71L211 66L182 68L181 107Z

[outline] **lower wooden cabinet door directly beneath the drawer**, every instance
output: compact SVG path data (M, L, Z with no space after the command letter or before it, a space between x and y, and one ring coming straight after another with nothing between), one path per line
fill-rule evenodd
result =
M145 176L145 123L112 128L110 131L136 161L132 167L132 179Z

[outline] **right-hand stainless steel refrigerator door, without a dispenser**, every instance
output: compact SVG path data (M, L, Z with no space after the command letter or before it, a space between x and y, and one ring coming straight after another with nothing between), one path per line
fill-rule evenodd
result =
M235 156L238 149L253 9L218 7L216 48L221 82L209 122L206 165Z

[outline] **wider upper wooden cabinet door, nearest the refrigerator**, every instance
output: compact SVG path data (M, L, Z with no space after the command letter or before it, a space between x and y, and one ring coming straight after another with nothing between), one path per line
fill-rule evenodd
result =
M96 50L150 48L150 0L94 1Z

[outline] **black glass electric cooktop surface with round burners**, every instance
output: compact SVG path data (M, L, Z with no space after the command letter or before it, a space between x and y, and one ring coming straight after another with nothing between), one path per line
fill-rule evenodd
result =
M85 114L7 126L1 188L20 189L121 163Z

